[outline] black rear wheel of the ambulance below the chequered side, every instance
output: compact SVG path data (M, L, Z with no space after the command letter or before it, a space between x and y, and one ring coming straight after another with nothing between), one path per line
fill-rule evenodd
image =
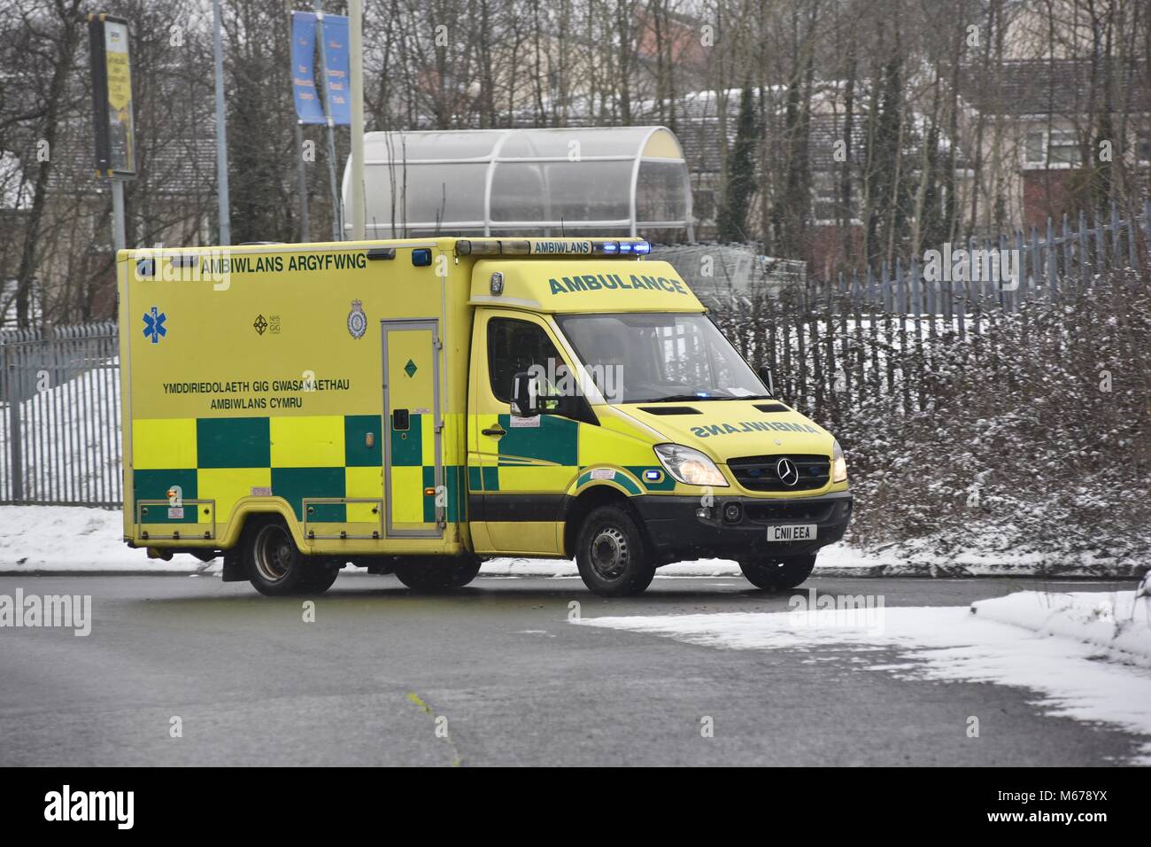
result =
M321 557L299 552L280 517L252 521L244 529L243 557L247 581L268 597L322 593L335 582L335 570Z

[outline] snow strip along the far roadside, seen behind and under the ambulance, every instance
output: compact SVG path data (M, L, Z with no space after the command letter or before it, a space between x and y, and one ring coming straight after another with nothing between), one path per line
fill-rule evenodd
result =
M78 506L0 506L0 573L29 570L142 570L185 573L204 570L190 555L171 561L147 559L143 550L124 545L119 511ZM816 573L823 576L1026 576L1043 573L1052 562L1026 553L960 553L935 555L929 546L901 546L881 553L861 551L846 543L820 551ZM219 567L219 561L207 569ZM349 568L345 573L355 572ZM1061 562L1059 576L1130 576L1129 568L1084 561L1078 567ZM576 577L571 560L501 557L483 564L481 573L495 576ZM661 576L741 576L726 559L700 559L662 567Z

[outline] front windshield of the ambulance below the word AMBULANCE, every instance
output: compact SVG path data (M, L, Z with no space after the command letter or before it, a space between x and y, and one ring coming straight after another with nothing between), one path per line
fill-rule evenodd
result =
M769 396L704 315L557 315L556 320L609 403Z

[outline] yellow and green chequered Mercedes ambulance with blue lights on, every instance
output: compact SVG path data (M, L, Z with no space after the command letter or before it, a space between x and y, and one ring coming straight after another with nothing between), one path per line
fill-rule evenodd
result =
M352 564L466 584L574 558L604 596L737 560L798 585L852 511L779 402L637 239L125 250L124 540L320 592Z

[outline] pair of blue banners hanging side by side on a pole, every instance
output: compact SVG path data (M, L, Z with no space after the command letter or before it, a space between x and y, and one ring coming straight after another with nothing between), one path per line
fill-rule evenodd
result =
M312 12L291 13L291 84L296 116L300 123L328 122L315 85L318 33L322 33L322 55L327 60L323 77L328 114L337 127L348 126L352 122L352 105L349 96L348 18L343 15L325 15L322 21L318 21Z

